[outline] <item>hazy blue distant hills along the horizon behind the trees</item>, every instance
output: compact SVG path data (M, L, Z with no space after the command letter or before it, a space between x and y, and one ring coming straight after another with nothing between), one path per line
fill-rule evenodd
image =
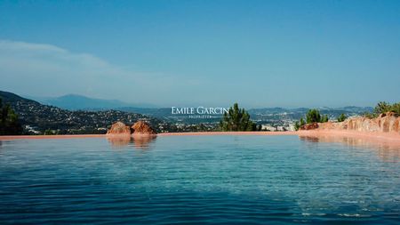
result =
M188 118L180 115L172 115L171 108L154 108L146 104L132 104L120 100L102 100L90 98L82 95L68 94L57 98L36 98L44 105L55 106L68 110L108 110L142 114L148 117L156 117L169 123L179 123L186 125L199 124L218 124L220 115L207 118ZM248 110L252 120L258 124L283 125L293 124L300 117L304 117L309 108L250 108ZM321 113L328 115L331 119L339 117L341 114L356 116L365 112L372 112L371 107L348 106L343 108L318 108Z

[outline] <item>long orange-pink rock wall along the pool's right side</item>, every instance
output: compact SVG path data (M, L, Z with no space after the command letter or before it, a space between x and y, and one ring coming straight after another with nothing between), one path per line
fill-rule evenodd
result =
M400 134L400 117L393 112L382 113L376 118L350 117L338 123L318 123L302 125L300 130L352 130L359 132L379 132Z

